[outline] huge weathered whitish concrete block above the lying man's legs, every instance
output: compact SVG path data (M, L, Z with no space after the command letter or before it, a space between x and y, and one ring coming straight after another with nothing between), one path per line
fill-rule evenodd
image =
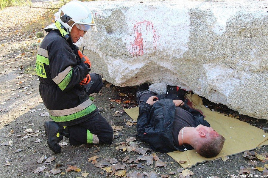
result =
M117 86L181 86L268 119L266 1L91 1L92 72Z

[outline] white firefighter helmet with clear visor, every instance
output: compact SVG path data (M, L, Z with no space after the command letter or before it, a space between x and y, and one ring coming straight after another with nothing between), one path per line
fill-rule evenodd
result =
M81 1L70 1L61 8L60 17L56 19L69 31L75 26L83 31L97 32L91 10Z

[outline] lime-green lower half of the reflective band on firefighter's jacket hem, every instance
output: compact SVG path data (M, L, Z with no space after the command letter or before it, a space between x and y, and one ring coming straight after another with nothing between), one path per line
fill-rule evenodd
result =
M83 117L85 115L90 114L91 112L93 112L97 107L94 104L91 104L90 106L88 106L87 108L85 108L82 111L79 111L77 113L74 114L70 114L68 116L52 116L50 115L50 117L55 121L55 122L67 122L67 121L71 121L80 117Z

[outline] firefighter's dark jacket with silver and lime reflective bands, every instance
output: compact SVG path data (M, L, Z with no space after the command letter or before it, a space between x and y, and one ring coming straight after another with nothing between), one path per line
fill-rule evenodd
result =
M43 39L36 58L39 92L49 115L60 125L69 126L98 113L79 83L89 72L58 30Z

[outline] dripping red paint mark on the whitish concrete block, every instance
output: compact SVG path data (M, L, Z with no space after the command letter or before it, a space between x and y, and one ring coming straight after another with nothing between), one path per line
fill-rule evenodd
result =
M152 22L150 21L142 21L142 22L137 22L135 25L134 25L134 32L135 32L135 40L134 42L132 43L131 42L131 54L133 56L141 56L144 54L144 51L143 51L143 47L146 45L146 41L144 42L143 41L143 38L142 38L142 27L146 26L146 36L148 34L149 31L152 30L152 37L153 37L153 46L154 46L154 49L156 50L156 45L157 45L157 39L158 39L158 36L156 35L156 30L154 29L154 25L152 24Z

